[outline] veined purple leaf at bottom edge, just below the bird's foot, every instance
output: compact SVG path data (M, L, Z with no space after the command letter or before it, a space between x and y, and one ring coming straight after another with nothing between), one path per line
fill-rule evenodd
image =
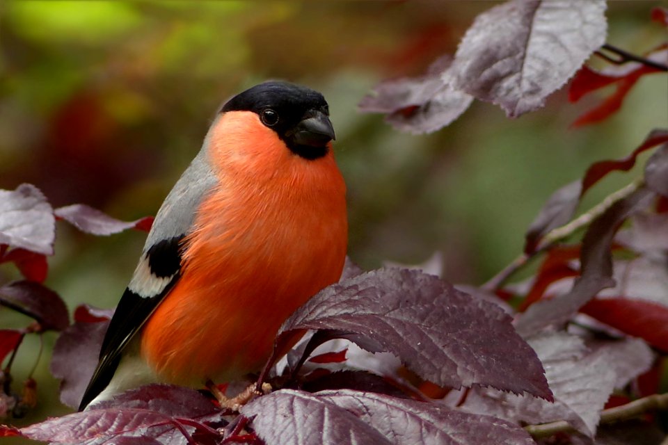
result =
M271 445L390 445L380 432L333 403L292 389L256 398L241 408L251 426Z

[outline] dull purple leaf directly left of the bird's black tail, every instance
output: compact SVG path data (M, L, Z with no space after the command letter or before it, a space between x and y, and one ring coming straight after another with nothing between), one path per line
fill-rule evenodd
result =
M76 322L56 340L50 368L54 377L61 380L61 402L65 405L79 407L97 366L107 326L108 321Z

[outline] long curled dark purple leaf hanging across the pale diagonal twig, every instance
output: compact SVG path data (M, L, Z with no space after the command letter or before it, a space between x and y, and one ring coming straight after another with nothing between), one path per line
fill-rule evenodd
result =
M612 280L612 257L610 248L619 225L638 209L645 207L654 193L647 188L639 188L612 204L596 218L582 239L582 273L573 288L564 296L541 300L531 305L515 323L517 332L523 337L539 332L551 325L566 323L575 312L607 287L614 286Z

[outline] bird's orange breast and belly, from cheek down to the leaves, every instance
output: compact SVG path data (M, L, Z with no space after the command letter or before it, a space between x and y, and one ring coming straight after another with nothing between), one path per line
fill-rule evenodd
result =
M347 250L345 185L331 150L296 156L250 112L218 118L205 143L220 184L141 341L158 375L182 385L259 371L280 324L338 280Z

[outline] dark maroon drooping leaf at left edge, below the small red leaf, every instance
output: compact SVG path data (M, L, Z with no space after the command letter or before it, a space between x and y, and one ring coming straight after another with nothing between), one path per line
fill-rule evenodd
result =
M70 325L65 302L37 282L17 281L0 287L0 305L34 318L43 330L60 331Z

